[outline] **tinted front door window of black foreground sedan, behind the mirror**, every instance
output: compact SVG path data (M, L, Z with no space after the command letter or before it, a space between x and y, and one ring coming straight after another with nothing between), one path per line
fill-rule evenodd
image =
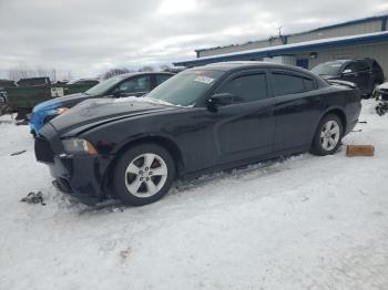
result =
M218 89L217 93L229 93L234 95L235 103L266 99L266 75L265 73L259 73L237 76Z

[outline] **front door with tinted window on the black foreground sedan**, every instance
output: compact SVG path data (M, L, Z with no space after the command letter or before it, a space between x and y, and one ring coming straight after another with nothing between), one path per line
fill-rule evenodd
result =
M265 155L272 152L275 121L266 70L249 70L229 76L215 94L235 96L232 105L212 114L218 164Z

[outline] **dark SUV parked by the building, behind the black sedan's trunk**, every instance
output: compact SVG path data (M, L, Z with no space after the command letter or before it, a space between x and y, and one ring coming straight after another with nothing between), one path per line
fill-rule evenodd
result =
M312 72L327 79L357 84L363 95L370 96L375 86L385 80L384 72L374 59L337 60L320 63Z

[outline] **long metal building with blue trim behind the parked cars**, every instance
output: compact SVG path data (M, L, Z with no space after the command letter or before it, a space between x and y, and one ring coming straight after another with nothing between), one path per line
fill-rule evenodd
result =
M374 58L388 75L388 14L195 52L196 59L174 65L196 66L222 61L256 60L312 69L331 60Z

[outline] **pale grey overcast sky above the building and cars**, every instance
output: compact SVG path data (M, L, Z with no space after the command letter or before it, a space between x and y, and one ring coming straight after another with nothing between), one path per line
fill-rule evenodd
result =
M19 65L95 76L388 13L387 0L0 0L0 76Z

